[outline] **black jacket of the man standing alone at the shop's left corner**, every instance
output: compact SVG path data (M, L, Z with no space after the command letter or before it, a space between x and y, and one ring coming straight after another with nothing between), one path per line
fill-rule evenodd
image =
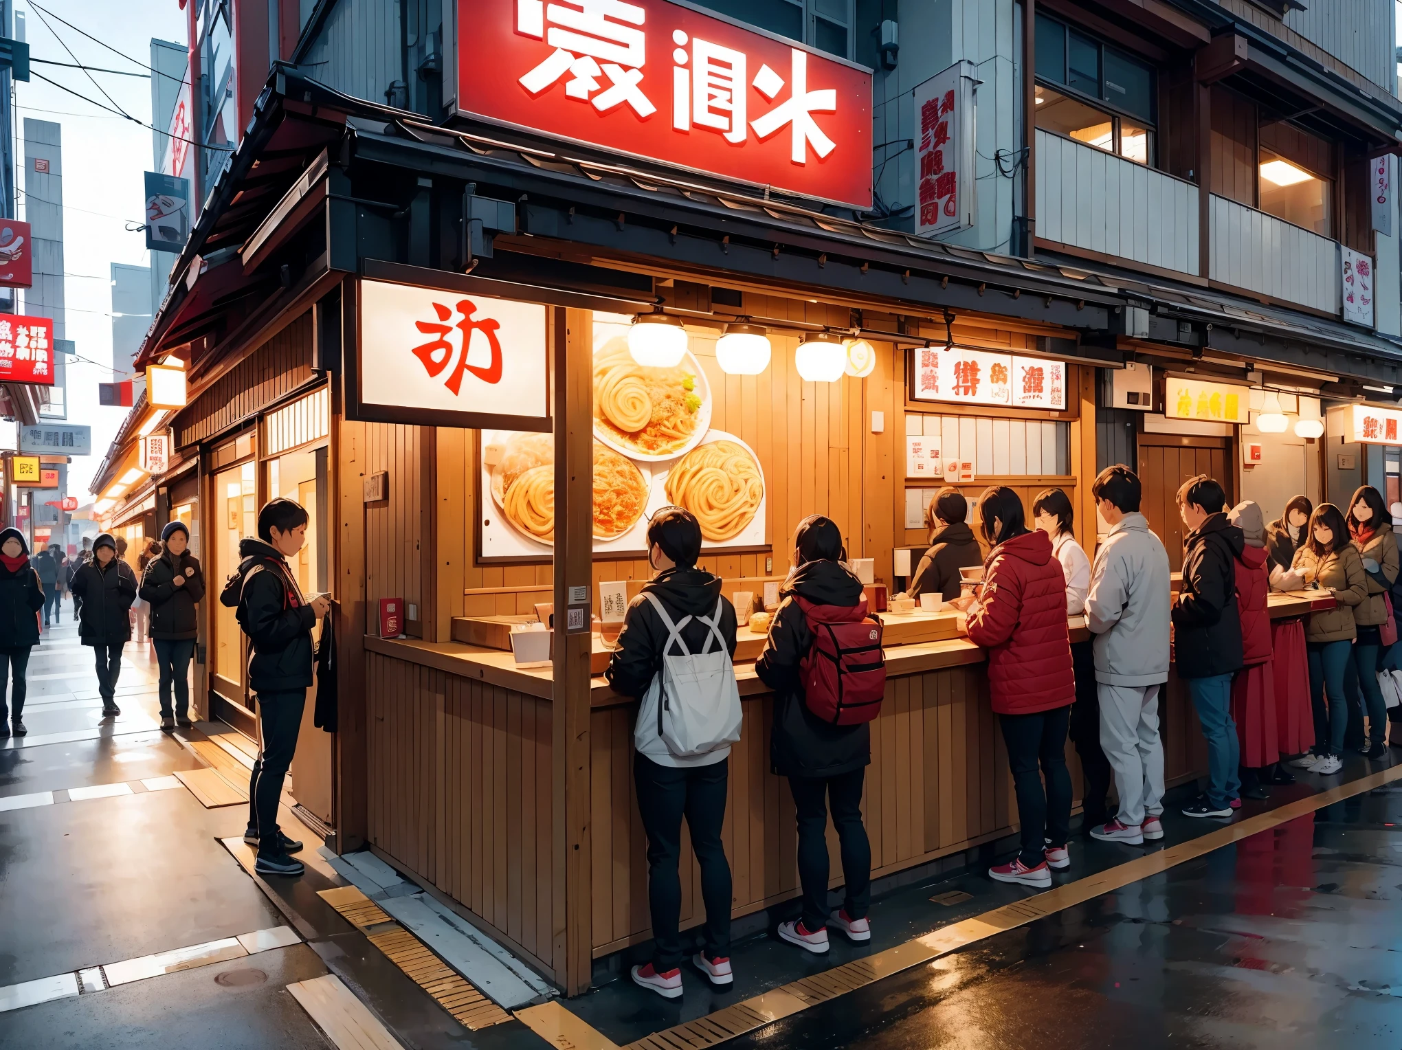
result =
M292 693L311 686L311 628L317 617L287 562L262 540L240 540L238 571L219 600L238 608L238 625L252 642L248 686L254 693ZM257 572L255 572L257 569Z

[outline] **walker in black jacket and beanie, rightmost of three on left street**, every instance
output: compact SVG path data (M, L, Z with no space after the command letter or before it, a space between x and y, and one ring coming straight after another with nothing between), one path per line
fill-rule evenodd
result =
M189 721L189 657L195 655L199 621L195 604L205 597L205 573L189 552L189 529L171 521L161 530L163 551L146 562L139 592L150 606L150 635L160 666L161 729L167 733ZM171 690L175 711L171 711Z

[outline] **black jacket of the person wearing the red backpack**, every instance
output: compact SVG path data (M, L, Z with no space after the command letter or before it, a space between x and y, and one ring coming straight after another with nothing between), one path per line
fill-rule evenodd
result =
M837 777L859 770L872 760L868 723L834 726L803 702L799 662L813 646L813 632L794 596L819 606L855 606L862 600L862 582L840 562L812 561L801 565L780 593L784 600L754 663L760 681L774 690L770 765L780 777Z

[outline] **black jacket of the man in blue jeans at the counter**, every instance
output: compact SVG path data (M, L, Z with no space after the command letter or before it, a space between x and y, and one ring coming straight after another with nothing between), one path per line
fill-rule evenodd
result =
M1173 601L1179 679L1207 679L1242 667L1237 611L1237 555L1246 545L1227 514L1209 516L1183 543L1183 582Z

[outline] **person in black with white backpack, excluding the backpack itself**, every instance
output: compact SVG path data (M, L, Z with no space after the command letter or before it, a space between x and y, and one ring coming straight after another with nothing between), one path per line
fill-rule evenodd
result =
M690 510L663 507L648 524L648 562L659 569L628 606L618 648L604 677L614 693L644 700L662 670L672 632L648 597L652 594L681 624L688 653L701 653L714 639L711 620L735 656L735 606L721 597L721 578L695 562L701 554L701 526ZM719 617L716 608L719 607ZM676 655L676 653L673 653ZM639 719L642 715L639 715ZM649 719L651 722L651 719ZM691 831L691 850L701 865L705 903L705 943L691 962L718 987L733 983L730 971L730 864L721 843L730 749L679 757L656 733L635 733L634 781L638 810L648 833L648 900L652 910L652 960L632 967L632 979L665 998L681 995L681 817Z

